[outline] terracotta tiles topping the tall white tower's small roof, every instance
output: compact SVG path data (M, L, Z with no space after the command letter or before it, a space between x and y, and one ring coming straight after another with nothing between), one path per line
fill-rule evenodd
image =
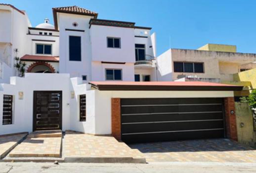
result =
M98 13L92 12L88 9L83 9L79 6L64 6L64 7L56 7L53 8L56 12L67 12L67 13L75 13L75 14L89 14L92 16L97 16Z

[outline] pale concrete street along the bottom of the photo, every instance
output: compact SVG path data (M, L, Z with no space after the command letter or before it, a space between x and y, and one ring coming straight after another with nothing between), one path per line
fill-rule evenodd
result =
M192 163L192 162L169 162L152 164L64 164L55 165L53 163L0 163L0 173L35 173L35 172L79 172L79 173L235 173L235 172L256 172L256 164L240 163Z

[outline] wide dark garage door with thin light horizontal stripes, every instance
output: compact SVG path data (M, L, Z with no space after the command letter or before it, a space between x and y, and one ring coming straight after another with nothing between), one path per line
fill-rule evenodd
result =
M121 99L121 140L127 143L225 136L223 99Z

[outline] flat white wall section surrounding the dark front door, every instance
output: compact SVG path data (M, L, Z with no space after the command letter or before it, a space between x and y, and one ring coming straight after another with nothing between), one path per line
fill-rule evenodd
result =
M62 130L70 129L69 74L25 74L25 78L12 77L11 84L1 84L0 102L3 94L14 96L14 114L12 125L0 123L0 135L33 131L33 92L34 91L62 91ZM19 99L19 92L23 92L23 99ZM0 115L3 105L0 104ZM2 116L0 116L2 122Z

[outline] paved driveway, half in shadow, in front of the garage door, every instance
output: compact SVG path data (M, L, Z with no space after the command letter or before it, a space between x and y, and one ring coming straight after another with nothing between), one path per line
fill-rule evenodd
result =
M256 150L229 139L139 143L129 145L145 154L148 162L216 161L256 163Z

